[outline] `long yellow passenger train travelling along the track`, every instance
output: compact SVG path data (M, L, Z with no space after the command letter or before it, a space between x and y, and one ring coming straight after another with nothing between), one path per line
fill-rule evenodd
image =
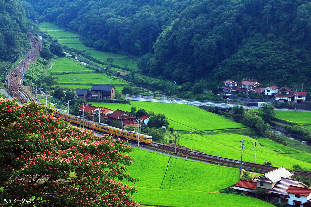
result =
M81 120L81 117L72 115L62 110L56 109L56 113L54 113L54 116L65 119L66 121L74 123L78 126L83 126L83 120ZM84 119L84 127L93 130L93 121L87 121L86 119ZM117 138L122 138L122 129L111 127L108 124L94 122L94 129L96 131L101 131ZM123 130L123 139L137 141L138 137L139 142L145 144L150 144L152 142L152 136L148 136L145 134L139 134L138 136L137 132L135 131Z

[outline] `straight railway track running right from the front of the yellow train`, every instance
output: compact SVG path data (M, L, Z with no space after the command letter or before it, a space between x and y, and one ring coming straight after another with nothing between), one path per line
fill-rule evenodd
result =
M159 151L169 152L170 154L175 152L174 147L170 147L170 146L159 144L159 143L151 143L150 145L147 145L147 146L144 145L144 147L150 148L150 149L156 148ZM222 166L227 166L227 167L232 167L232 168L240 168L240 160L229 159L229 158L219 157L215 155L194 152L190 150L183 150L179 148L176 149L176 154L178 154L180 157L183 157L183 158L196 159L202 162L207 162L207 163L212 163L212 164L217 164L217 165L222 165ZM257 173L265 173L265 172L269 172L269 171L277 169L277 167L267 166L267 165L262 165L262 164L256 164L256 163L250 163L250 162L242 162L242 163L243 163L243 168L255 171ZM311 173L308 173L308 172L294 170L294 173L296 175L300 175L303 177L311 177Z

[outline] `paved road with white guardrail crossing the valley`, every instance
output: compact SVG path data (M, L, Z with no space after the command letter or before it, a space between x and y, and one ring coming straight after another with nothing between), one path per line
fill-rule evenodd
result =
M126 99L132 101L147 101L147 102L160 102L160 103L170 103L169 100L159 100L159 99L150 99L150 98L134 98L134 97L126 97ZM234 106L240 107L238 104L222 104L222 103L211 103L211 102L200 102L200 101L185 101L185 100L172 100L172 103L176 104L188 104L194 106L215 106L216 108L232 108ZM258 109L259 107L254 106L243 106L244 108ZM276 111L295 111L295 109L289 108L275 108ZM302 110L297 109L297 111L302 112L311 112L311 110Z

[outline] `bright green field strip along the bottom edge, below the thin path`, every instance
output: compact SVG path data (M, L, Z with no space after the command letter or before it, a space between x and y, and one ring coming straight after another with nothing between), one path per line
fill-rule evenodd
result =
M147 196L148 195L148 196ZM149 196L150 195L150 196ZM152 196L156 195L156 196ZM133 195L142 205L174 206L174 207L273 207L265 201L241 195L208 193L198 191L179 191L157 188L137 188ZM220 202L221 201L221 202Z

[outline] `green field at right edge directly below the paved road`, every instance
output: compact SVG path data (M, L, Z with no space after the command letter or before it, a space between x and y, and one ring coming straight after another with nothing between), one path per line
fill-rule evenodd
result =
M276 117L293 123L311 124L311 113L300 111L275 111Z

